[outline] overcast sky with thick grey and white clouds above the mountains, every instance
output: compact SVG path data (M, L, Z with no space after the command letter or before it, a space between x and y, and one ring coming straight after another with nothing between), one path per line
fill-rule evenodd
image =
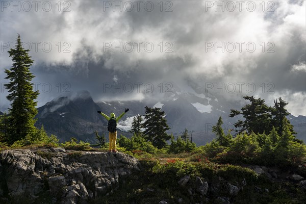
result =
M1 111L19 33L35 61L38 106L77 90L95 101L159 99L192 82L228 100L282 96L306 115L305 1L0 3Z

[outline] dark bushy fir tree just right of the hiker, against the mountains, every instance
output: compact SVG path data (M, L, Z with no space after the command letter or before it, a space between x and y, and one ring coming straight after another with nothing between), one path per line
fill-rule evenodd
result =
M145 131L143 134L147 141L151 141L158 148L165 147L166 141L171 139L171 136L166 133L170 128L164 115L165 112L160 108L145 107L145 122L143 123Z

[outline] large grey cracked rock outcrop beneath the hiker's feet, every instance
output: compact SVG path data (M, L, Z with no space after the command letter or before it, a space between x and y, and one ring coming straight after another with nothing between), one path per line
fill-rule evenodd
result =
M4 150L0 154L0 202L50 198L53 203L86 203L114 192L133 171L139 171L138 160L120 152Z

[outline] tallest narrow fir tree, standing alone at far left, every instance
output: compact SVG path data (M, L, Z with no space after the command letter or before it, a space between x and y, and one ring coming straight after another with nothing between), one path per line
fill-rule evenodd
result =
M11 48L8 53L12 57L13 66L8 70L5 69L7 77L10 80L5 85L10 93L7 99L12 101L9 109L9 143L23 139L32 138L36 133L34 126L37 119L37 98L38 91L33 91L33 83L31 83L34 75L30 72L30 66L33 60L29 56L29 49L22 47L20 35L18 34L15 49Z

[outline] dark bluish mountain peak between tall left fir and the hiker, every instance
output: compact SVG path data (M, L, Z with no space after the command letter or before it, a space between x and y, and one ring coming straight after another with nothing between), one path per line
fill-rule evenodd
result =
M43 125L47 133L55 134L61 142L75 137L94 143L95 130L99 134L108 135L107 121L97 113L100 109L88 91L80 91L71 96L56 98L38 108L35 125L39 128Z

